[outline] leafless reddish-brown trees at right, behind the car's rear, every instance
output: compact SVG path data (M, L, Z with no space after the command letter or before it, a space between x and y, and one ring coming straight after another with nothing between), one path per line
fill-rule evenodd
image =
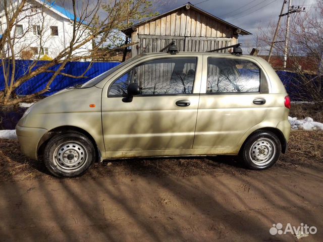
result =
M323 100L323 0L318 0L317 4L305 13L295 14L291 17L288 61L287 67L291 72L296 73L296 78L290 84L294 90L298 90L300 98L321 102ZM285 24L282 24L275 44L274 54L283 55ZM275 25L273 23L264 31L261 31L260 42L262 50L270 48L274 35ZM280 69L275 64L275 58L271 59L271 64Z

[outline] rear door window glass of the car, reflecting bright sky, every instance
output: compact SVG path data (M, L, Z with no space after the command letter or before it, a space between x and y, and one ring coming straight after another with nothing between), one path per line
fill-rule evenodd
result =
M239 59L208 58L206 93L260 92L260 69Z

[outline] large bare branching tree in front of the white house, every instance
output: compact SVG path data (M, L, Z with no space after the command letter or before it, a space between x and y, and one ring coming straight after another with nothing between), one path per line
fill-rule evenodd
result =
M51 61L39 66L37 62L46 52L46 48L43 47L44 43L47 38L50 38L48 36L50 24L45 12L50 11L52 4L39 1L38 5L30 5L27 0L0 0L0 17L3 15L5 19L0 26L2 28L0 68L3 69L0 81L5 83L5 89L0 91L1 105L31 100L45 93L58 75L73 78L84 77L90 65L82 75L73 76L63 72L66 64L71 61L92 60L102 54L109 55L109 50L102 53L101 49L102 46L114 39L116 30L127 27L133 21L152 15L149 0L98 0L97 2L72 0L71 6L69 6L72 12L69 24L71 31L69 36L64 38L66 43L64 42L65 45L57 49L55 56L51 56ZM26 21L28 21L28 27L22 31L21 23ZM51 31L55 32L56 29ZM26 41L26 36L29 36L30 32L33 32L37 38L33 37L32 40ZM33 49L31 47L33 43L37 43L39 48ZM127 46L130 45L132 43ZM16 60L26 58L26 56L33 56L33 62L27 67L25 75L16 78ZM59 68L52 71L51 68L57 65ZM41 73L53 73L43 90L23 97L15 95L17 88Z

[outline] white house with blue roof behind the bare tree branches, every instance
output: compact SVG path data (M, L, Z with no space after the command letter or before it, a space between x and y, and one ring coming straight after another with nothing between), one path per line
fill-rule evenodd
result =
M55 2L29 0L16 22L12 31L15 36L16 58L28 52L31 58L41 58L48 55L56 57L63 49L68 48L73 35L74 15ZM78 20L78 19L77 19ZM7 28L5 11L0 11L0 37ZM88 33L88 31L87 31ZM77 39L81 41L86 36L82 27L77 31ZM84 56L92 49L89 42L78 48L73 54ZM29 54L30 55L30 54Z

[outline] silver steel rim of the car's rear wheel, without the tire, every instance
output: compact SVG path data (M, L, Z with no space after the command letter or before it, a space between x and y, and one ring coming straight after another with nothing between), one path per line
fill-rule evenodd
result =
M250 148L250 158L258 166L270 163L276 154L275 143L267 138L260 138Z

